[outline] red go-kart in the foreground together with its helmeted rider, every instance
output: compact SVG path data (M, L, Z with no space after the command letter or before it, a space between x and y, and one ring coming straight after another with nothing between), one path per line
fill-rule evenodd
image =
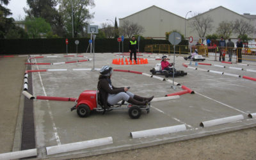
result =
M102 67L100 74L98 90L85 90L82 92L71 111L77 109L77 115L87 117L93 110L105 113L105 111L114 109L128 109L129 116L134 119L140 118L141 110L149 113L150 101L154 96L149 98L140 97L128 92L130 87L114 87L110 79L112 68L109 66Z

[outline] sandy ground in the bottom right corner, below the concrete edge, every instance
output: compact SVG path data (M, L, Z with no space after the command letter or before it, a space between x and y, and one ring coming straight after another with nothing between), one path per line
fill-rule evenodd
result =
M255 159L256 127L84 159Z

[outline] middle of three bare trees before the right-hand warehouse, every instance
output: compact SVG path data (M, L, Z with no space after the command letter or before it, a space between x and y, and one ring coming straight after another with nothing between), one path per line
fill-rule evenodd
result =
M223 38L227 40L228 38L230 38L233 30L234 30L234 23L232 21L230 22L222 21L220 22L216 32L218 33L218 35L223 36Z

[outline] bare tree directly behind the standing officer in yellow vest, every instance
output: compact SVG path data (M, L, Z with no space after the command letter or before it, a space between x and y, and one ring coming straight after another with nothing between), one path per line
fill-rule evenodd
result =
M130 22L129 20L125 20L124 24L120 26L120 33L129 38L131 38L132 35L140 35L144 30L143 26Z

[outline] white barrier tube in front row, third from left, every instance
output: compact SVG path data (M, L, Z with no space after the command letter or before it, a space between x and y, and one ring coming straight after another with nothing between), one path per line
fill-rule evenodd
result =
M137 132L130 132L130 136L132 138L143 138L147 136L157 136L157 135L163 135L163 134L169 134L172 132L180 132L185 131L186 125L174 125L170 127L163 127L163 128L157 128L157 129L148 129L144 131L137 131Z

